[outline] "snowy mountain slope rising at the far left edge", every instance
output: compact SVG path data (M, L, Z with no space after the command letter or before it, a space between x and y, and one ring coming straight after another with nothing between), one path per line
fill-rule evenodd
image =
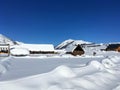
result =
M15 41L11 40L10 38L0 34L0 44L10 44L15 45L17 44Z

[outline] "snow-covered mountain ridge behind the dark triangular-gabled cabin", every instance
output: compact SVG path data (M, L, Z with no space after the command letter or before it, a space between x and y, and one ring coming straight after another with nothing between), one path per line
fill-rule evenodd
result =
M62 43L60 43L58 46L56 46L56 49L64 49L71 44L78 45L78 44L92 44L92 43L83 41L83 40L68 39L68 40L65 40Z

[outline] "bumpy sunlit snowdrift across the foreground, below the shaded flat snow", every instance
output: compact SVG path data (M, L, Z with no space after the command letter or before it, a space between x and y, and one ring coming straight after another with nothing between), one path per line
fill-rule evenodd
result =
M94 60L78 68L61 65L48 73L1 81L0 90L119 90L119 67L119 56Z

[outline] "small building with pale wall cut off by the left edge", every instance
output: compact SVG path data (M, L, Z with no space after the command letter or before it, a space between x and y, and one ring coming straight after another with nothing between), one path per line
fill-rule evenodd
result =
M9 54L10 54L10 45L0 44L0 56L9 56Z

